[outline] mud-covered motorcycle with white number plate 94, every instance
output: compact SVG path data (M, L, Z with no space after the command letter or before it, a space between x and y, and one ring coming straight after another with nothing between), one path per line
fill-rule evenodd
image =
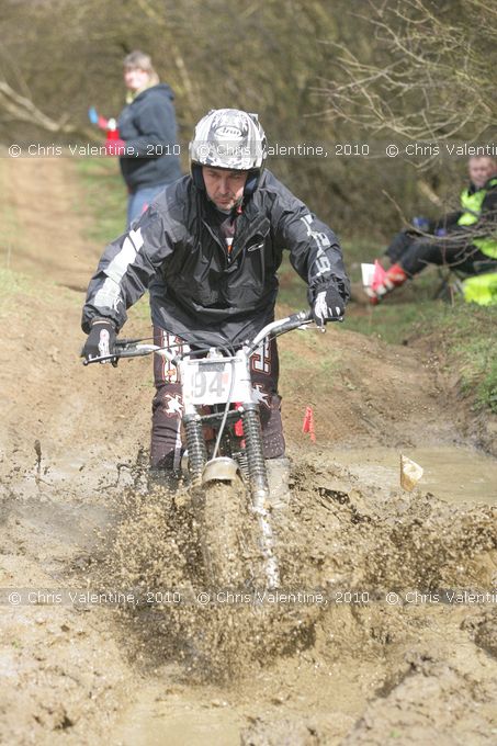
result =
M263 455L259 403L250 380L253 354L270 339L313 320L302 310L264 326L238 349L144 343L117 339L112 354L84 364L157 353L178 366L183 402L182 470L190 484L212 588L248 583L280 586Z

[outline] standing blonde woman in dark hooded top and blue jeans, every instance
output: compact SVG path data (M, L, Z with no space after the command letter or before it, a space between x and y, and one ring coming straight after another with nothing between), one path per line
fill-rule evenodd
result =
M117 128L126 154L120 166L129 193L129 226L166 184L182 174L172 90L159 82L150 57L139 50L124 59L124 82L127 105Z

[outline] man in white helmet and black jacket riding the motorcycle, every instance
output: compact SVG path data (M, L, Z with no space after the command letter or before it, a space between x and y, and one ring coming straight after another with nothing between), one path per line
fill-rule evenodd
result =
M343 316L349 281L338 239L264 170L266 156L257 115L221 109L202 117L190 143L191 174L168 184L105 248L82 313L88 360L112 354L126 309L147 289L158 344L233 348L253 338L274 318L284 249L308 285L316 324ZM150 465L171 475L181 457L181 388L176 368L155 358ZM272 340L252 358L252 384L264 456L284 466L278 376Z

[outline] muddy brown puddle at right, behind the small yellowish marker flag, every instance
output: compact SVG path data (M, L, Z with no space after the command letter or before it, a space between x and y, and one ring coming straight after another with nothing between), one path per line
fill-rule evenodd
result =
M497 460L473 449L440 447L403 449L402 453L423 468L422 490L449 502L497 505ZM334 460L347 466L361 482L398 488L400 450L368 448L335 451Z

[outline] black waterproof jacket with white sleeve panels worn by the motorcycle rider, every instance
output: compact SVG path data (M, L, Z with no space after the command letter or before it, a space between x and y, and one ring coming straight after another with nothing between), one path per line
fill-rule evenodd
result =
M309 286L349 281L332 230L266 171L236 218L230 259L191 177L168 185L134 229L110 244L92 278L82 328L108 317L120 329L148 287L155 325L208 344L240 343L273 318L282 252Z

